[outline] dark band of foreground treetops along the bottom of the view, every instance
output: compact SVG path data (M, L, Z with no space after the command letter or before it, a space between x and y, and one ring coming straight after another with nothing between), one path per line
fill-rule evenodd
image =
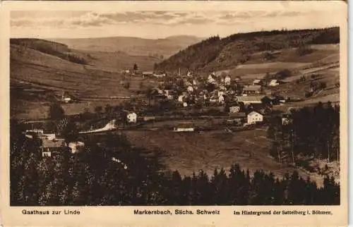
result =
M296 171L275 178L238 164L181 176L160 162L161 151L133 147L124 134L88 136L82 152L42 157L40 142L11 124L11 206L340 204L333 178L318 188Z

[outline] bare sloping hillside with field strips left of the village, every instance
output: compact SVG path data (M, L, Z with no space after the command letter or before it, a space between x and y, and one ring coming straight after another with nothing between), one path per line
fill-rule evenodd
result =
M66 58L68 54L79 56L84 63ZM11 117L19 118L44 117L48 104L64 91L79 100L97 99L88 104L66 104L68 114L85 108L93 110L97 104L112 104L100 98L131 96L136 94L133 87L140 84L136 78L126 89L122 83L126 79L116 73L121 70L119 67L132 67L136 62L141 69L148 70L154 63L152 57L89 53L41 39L11 39L10 59ZM116 64L118 59L124 61Z

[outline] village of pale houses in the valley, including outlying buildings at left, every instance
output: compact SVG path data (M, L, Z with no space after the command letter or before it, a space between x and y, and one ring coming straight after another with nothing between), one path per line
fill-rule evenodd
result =
M88 117L85 124L81 124L85 126L79 127L77 141L67 143L64 137L44 129L43 121L26 122L30 128L25 130L25 137L39 139L42 156L52 157L63 147L72 153L80 151L84 147L83 137L97 133L124 130L169 130L174 133L225 130L232 133L265 128L273 116L282 117L283 124L289 123L289 111L283 113L273 109L290 99L275 94L273 88L283 83L280 80L242 81L240 77L232 79L226 73L215 72L207 77L191 71L184 75L179 71L172 76L164 72L137 73L133 70L121 73L142 80L157 80L157 86L148 87L143 97L131 98L124 106L114 109L106 106L98 121ZM66 92L58 100L61 104L75 102ZM77 117L68 116L73 121ZM97 119L97 115L92 118Z

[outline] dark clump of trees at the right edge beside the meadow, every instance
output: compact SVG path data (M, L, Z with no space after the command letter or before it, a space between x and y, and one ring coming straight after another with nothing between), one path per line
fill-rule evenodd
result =
M289 116L277 116L270 121L268 137L273 140L270 154L277 159L281 159L282 152L294 163L299 154L339 160L340 106L320 102L292 110Z

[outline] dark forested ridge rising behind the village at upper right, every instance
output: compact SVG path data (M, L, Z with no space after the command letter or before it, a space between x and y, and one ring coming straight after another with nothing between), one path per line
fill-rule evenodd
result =
M220 38L210 37L155 64L155 70L224 69L251 60L256 52L303 47L309 44L337 44L340 28L273 30L249 32Z

